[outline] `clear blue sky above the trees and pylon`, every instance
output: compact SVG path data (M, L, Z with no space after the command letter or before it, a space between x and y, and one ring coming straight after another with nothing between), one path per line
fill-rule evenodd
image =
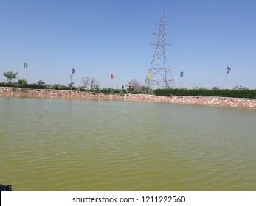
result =
M144 83L163 8L176 87L225 88L228 65L227 88L256 88L255 0L0 0L0 82L26 62L29 83Z

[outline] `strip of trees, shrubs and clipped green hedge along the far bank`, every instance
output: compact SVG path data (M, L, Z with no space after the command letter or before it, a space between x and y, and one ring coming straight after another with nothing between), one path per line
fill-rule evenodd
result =
M145 88L138 80L131 79L128 83L133 85L132 90L128 91L125 86L122 89L102 88L100 89L100 82L94 77L83 77L81 79L83 86L75 87L74 82L70 82L68 85L47 85L43 80L39 80L37 83L28 84L26 79L18 79L18 82L13 82L18 78L18 72L7 71L3 73L7 78L7 82L0 82L0 87L17 87L17 88L32 88L32 89L54 89L54 90L81 90L91 91L105 94L125 94L129 93L151 93L157 96L224 96L224 97L237 97L237 98L252 98L256 99L256 90L249 90L249 88L243 86L235 86L232 90L221 89L213 87L212 89L194 87L193 89L187 88L167 88L150 90Z

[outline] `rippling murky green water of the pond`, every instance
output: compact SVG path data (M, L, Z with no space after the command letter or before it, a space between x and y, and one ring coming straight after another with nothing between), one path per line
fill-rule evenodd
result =
M0 97L15 191L256 191L256 110Z

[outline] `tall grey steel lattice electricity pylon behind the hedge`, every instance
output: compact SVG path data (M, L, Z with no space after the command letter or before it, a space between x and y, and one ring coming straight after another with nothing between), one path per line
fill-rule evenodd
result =
M153 35L158 36L158 41L152 43L156 46L156 51L145 80L145 87L151 89L175 88L170 61L167 58L167 46L173 45L166 41L166 36L170 34L165 32L165 27L170 26L170 24L165 21L165 10L162 12L161 20L156 22L155 25L159 25L159 32L153 33Z

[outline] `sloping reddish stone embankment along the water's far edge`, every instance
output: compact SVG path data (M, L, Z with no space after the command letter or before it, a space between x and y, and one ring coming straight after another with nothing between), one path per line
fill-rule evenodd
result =
M20 96L60 99L108 99L148 102L168 102L173 104L198 104L224 107L243 107L256 109L256 99L230 98L218 96L154 96L148 94L106 95L72 90L0 88L1 96Z

